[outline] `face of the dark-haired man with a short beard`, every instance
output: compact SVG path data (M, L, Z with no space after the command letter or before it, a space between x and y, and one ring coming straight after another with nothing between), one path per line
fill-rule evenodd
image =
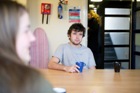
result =
M83 38L83 32L76 32L75 30L72 30L68 37L73 45L80 45Z

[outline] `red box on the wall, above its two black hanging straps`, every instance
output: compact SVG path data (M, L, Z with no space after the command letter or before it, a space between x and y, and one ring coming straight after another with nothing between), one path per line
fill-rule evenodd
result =
M51 14L51 4L50 3L42 3L41 4L41 14Z

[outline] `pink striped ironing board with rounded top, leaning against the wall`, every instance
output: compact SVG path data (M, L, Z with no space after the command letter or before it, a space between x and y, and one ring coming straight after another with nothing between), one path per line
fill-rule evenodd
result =
M37 28L34 31L36 41L31 44L30 66L35 68L47 68L49 61L48 39L45 31L42 28Z

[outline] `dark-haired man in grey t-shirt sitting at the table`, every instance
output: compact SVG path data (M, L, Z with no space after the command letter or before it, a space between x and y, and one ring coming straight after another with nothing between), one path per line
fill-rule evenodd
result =
M76 65L76 62L84 62L86 64L84 69L95 69L96 64L91 50L81 44L85 36L85 27L81 23L74 23L70 26L67 35L70 42L57 48L48 67L77 73L79 66ZM62 64L59 64L60 62Z

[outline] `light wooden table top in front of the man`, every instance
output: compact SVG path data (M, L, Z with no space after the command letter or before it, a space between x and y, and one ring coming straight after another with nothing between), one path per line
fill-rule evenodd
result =
M40 71L54 87L66 88L67 93L140 93L140 70Z

